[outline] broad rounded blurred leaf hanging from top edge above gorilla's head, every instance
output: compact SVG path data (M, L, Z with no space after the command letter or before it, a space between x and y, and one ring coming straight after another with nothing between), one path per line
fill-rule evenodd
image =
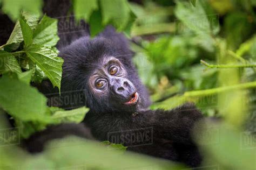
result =
M112 23L118 30L127 25L130 9L126 0L100 0L100 8L104 25Z

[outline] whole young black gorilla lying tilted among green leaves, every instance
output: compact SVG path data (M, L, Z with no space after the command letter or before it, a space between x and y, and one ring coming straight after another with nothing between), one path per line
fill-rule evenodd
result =
M90 111L83 124L93 138L122 143L130 151L191 167L200 165L201 156L191 131L194 123L202 118L201 112L190 103L173 110L148 110L149 94L139 80L122 34L108 28L94 39L82 37L61 49L59 56L64 59L62 91L85 91L85 103ZM52 138L58 138L54 134L65 129L65 125L59 126L63 127L52 126L47 133L39 132L26 140L28 150L41 151L51 140L49 133ZM90 136L78 133L73 134ZM66 135L69 134L72 132ZM37 140L46 135L47 140ZM36 148L35 142L41 149Z

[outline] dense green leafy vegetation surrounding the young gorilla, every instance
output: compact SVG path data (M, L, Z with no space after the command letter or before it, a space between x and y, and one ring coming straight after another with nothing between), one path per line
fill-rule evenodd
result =
M61 88L57 19L43 15L43 1L0 3L1 13L16 22L0 45L0 169L178 168L123 154L122 145L78 138L56 140L38 155L18 148L23 138L47 125L81 122L88 109L48 107L46 97L30 85L49 79ZM73 0L71 11L77 21L89 23L92 36L112 24L132 39L133 61L150 90L152 109L191 101L205 116L221 117L221 123L201 129L203 136L195 134L206 158L202 168L255 169L255 9L255 0ZM9 128L5 112L16 128Z

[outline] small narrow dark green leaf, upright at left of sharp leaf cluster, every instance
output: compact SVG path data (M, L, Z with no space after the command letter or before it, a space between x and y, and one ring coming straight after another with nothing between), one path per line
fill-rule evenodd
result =
M29 46L30 44L32 44L33 41L33 31L23 19L19 19L19 24L21 24L21 30L25 45Z

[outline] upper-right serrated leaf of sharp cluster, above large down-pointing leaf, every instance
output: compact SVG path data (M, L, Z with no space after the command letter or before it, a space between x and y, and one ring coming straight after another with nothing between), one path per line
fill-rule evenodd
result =
M57 19L44 16L33 32L33 44L55 46L59 40L57 23Z

